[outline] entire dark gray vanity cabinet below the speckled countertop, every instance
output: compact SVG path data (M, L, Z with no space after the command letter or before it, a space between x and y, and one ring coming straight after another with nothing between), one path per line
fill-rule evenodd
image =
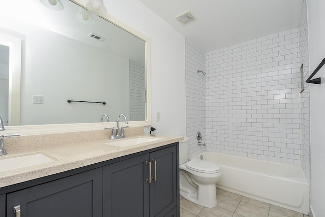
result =
M179 216L178 165L176 142L8 186L0 217Z

